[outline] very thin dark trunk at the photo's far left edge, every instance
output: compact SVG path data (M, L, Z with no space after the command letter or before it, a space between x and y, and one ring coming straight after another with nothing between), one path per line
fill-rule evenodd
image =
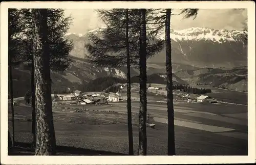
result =
M12 145L15 144L14 139L14 106L13 106L13 84L12 84L12 65L9 62L9 79L10 79L10 96L11 96L11 111L12 111Z

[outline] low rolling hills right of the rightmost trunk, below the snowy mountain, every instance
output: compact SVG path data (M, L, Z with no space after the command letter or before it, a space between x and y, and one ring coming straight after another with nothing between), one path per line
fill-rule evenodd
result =
M247 91L247 67L183 70L175 74L190 85L209 84L219 88Z

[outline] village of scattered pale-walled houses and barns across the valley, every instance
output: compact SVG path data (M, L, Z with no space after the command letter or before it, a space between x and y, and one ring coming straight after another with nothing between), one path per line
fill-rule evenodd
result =
M138 91L137 91L138 92ZM148 93L153 93L155 98L159 95L166 96L166 90L163 87L148 87ZM216 103L217 100L215 98L211 98L207 95L197 95L183 92L181 90L173 90L173 95L175 96L175 100L186 101L187 103L195 103L195 102L209 102ZM139 97L133 97L132 100L139 100ZM126 101L126 90L123 90L121 86L119 90L109 93L104 92L82 92L79 90L75 90L70 94L55 94L53 97L53 104L108 104L108 102L121 102ZM151 100L154 101L154 100ZM155 100L157 101L157 100Z

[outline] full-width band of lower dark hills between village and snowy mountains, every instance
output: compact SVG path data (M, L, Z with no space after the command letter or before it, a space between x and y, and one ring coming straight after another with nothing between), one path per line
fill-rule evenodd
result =
M189 65L174 64L174 84L209 84L216 87L247 91L247 68L194 68ZM194 69L193 69L194 68ZM166 70L157 64L148 64L148 83L165 84ZM131 68L132 82L139 82L139 69ZM24 96L30 90L30 71L22 65L13 69L14 97ZM85 59L72 58L70 68L65 72L51 72L52 92L71 90L99 91L114 84L126 82L126 68L98 68Z

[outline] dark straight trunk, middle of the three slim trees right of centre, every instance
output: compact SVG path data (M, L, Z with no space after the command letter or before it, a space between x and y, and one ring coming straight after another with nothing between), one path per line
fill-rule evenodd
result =
M140 9L140 113L139 155L146 155L146 9Z

